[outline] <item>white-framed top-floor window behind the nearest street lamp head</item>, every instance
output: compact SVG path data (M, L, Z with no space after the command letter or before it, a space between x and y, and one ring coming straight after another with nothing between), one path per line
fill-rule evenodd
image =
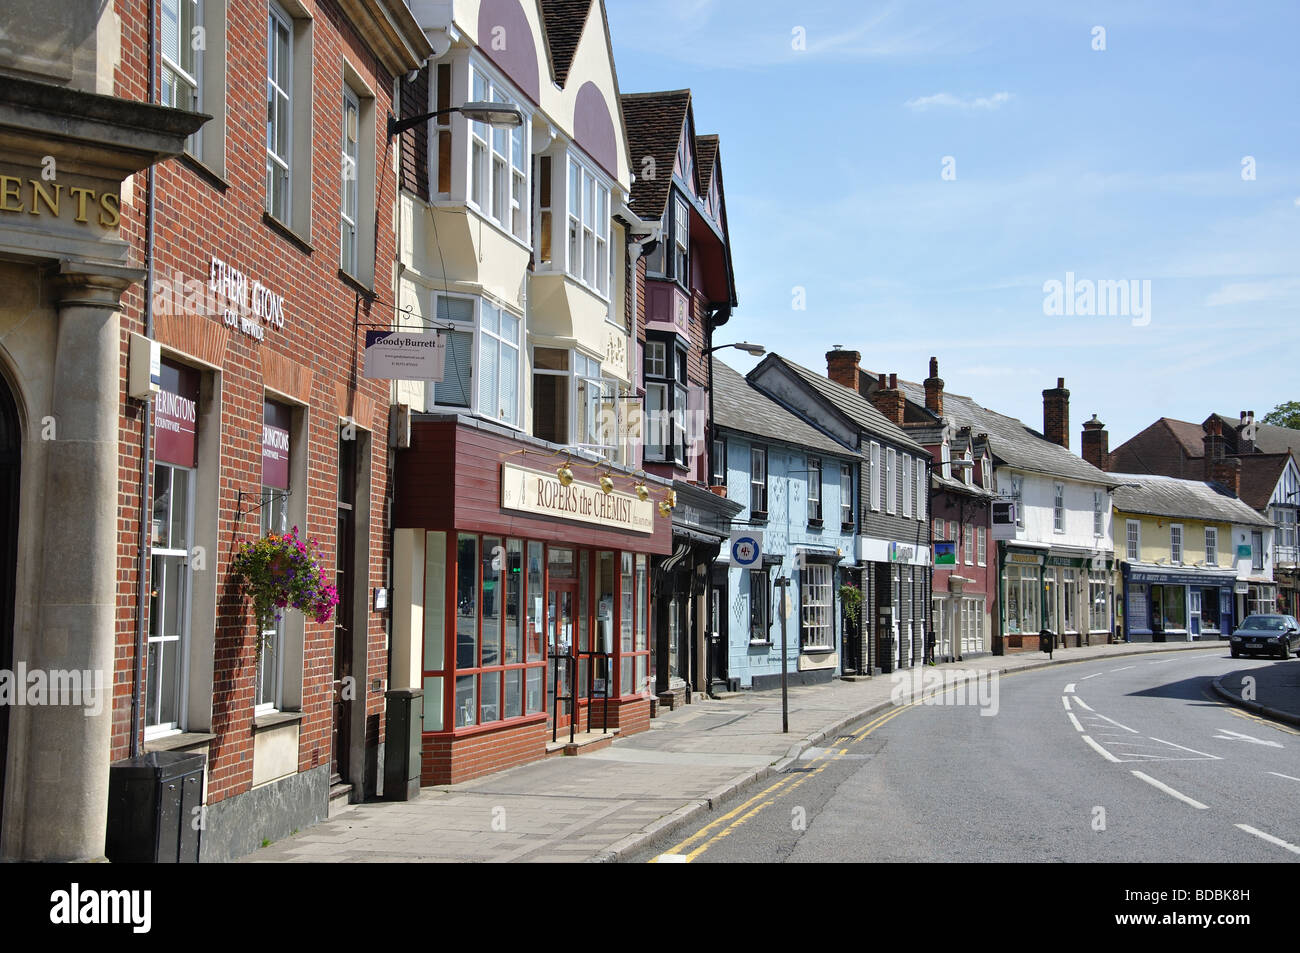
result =
M471 99L515 103L515 98L478 68L471 68ZM529 235L528 127L469 122L469 204L521 242Z

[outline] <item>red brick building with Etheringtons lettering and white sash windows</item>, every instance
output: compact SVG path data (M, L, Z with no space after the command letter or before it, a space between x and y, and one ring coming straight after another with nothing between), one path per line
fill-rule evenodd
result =
M212 118L122 203L151 278L124 296L112 757L205 754L203 858L226 859L377 785L389 382L361 348L395 296L394 79L430 47L399 0L156 5L156 98ZM127 99L148 9L120 5ZM136 335L152 400L127 389ZM259 637L231 558L295 528L339 602Z

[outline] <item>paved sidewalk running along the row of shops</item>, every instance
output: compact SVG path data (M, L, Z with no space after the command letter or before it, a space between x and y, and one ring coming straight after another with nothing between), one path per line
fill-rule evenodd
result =
M920 668L1000 673L1150 651L1219 649L1226 642L1100 645ZM1297 664L1300 668L1300 664ZM916 671L916 670L914 670ZM368 802L265 846L244 862L575 862L618 861L651 840L707 823L724 797L783 770L858 719L889 709L888 675L792 688L788 735L781 693L696 696L650 731L578 757L552 757L406 802Z

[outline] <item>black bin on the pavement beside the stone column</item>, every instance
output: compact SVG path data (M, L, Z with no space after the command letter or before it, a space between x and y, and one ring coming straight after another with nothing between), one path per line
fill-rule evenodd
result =
M199 862L205 761L190 751L151 751L109 766L109 861Z

